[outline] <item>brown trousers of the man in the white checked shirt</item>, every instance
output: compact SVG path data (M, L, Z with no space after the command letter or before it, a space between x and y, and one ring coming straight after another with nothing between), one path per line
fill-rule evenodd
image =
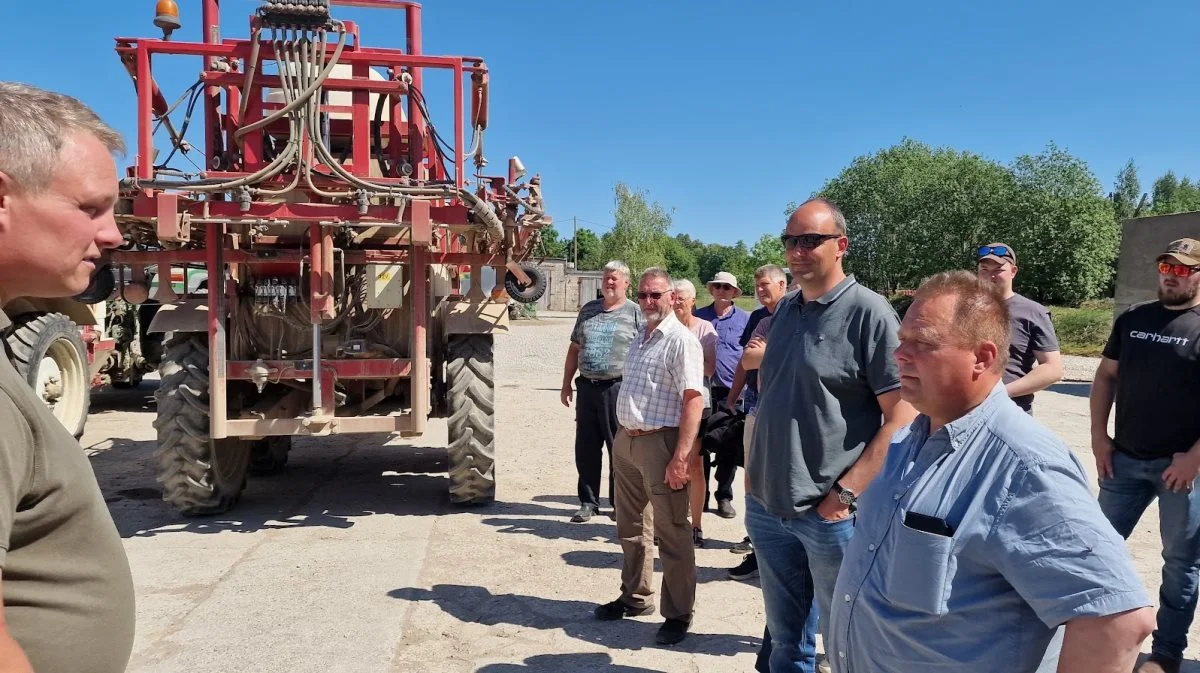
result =
M662 559L660 612L668 619L690 621L696 605L696 548L691 545L688 487L672 491L666 483L667 463L678 438L678 428L642 437L630 437L625 428L617 433L612 467L617 474L617 536L624 553L620 600L637 608L654 603L650 582L658 536Z

